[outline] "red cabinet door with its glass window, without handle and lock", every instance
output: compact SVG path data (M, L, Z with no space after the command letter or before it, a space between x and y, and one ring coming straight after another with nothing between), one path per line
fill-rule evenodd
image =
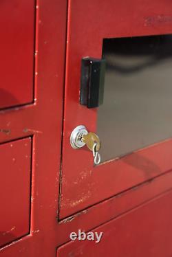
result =
M171 16L169 0L69 1L60 219L171 170ZM107 60L94 109L79 102L87 56ZM69 144L78 125L102 140L100 165Z

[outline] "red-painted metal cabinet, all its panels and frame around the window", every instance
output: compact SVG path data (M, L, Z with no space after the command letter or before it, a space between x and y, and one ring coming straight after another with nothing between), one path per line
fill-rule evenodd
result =
M23 227L3 242L1 256L56 256L56 252L59 256L93 252L101 256L105 251L109 256L134 257L140 249L148 256L162 256L163 251L170 256L171 192L167 191L172 181L171 139L95 167L92 153L86 148L72 149L69 136L79 124L96 131L97 110L79 104L81 58L100 58L103 38L172 33L171 1L37 0L2 1L0 5L6 6L4 16L8 10L22 10L25 23L19 25L17 16L9 25L15 31L23 24L23 36L18 34L13 45L15 51L21 43L25 45L26 38L28 43L21 59L17 58L22 76L13 74L15 87L6 84L20 102L13 104L3 97L0 112L0 150L8 149L12 142L20 149L3 152L3 166L14 155L21 162L14 166L8 161L9 172L22 165L28 176L21 172L19 181L16 177L8 180L1 171L1 181L14 181L12 186L18 185L14 192L23 192L19 197L25 197L27 204L18 203L23 207L22 217L16 216L16 199L12 209L8 205L17 219L10 219L10 228L5 227L3 233L13 232L16 221L23 222ZM14 53L14 48L10 50ZM10 62L10 54L3 58ZM14 63L10 65L14 72ZM18 107L6 109L14 105ZM28 148L23 146L25 140ZM23 163L25 155L32 155L31 162ZM22 179L28 186L23 186ZM9 192L3 197L3 203L8 201ZM96 227L105 233L100 244L69 242L71 232L96 231Z

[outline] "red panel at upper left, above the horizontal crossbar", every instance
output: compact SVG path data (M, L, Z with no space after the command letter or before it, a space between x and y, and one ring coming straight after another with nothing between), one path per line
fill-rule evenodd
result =
M0 2L0 109L33 101L35 1Z

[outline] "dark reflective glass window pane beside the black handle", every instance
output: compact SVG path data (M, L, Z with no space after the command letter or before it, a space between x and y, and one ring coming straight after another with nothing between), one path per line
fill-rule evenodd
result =
M110 38L97 132L102 161L172 136L172 36Z

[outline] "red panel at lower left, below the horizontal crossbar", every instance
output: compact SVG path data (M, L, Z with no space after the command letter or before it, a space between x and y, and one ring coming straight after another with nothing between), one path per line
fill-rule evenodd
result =
M0 247L30 232L31 138L0 145Z

